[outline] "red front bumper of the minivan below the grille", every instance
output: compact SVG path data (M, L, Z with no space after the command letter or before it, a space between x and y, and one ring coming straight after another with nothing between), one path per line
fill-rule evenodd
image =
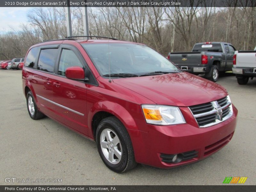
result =
M132 131L131 139L138 163L159 168L171 168L202 160L220 150L232 139L237 109L226 121L206 128L198 128L194 122L173 126L148 124L149 132ZM184 158L171 163L173 155ZM169 161L169 162L168 162Z

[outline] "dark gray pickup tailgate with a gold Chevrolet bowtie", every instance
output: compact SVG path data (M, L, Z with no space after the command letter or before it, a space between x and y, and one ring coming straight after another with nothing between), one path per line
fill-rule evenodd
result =
M177 66L200 66L201 52L173 52L169 53L170 60Z

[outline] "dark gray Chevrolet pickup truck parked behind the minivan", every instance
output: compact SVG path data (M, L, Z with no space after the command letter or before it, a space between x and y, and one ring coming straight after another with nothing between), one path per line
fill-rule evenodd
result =
M192 52L171 52L168 59L183 71L205 74L216 82L220 72L231 71L236 49L232 44L205 42L194 45Z

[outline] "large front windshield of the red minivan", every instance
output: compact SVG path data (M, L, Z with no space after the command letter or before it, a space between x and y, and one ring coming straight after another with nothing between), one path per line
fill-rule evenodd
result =
M146 45L93 43L82 46L102 76L132 77L180 72L172 62Z

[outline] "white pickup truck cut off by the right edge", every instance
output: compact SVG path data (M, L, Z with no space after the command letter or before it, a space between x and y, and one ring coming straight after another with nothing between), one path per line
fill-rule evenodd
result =
M256 47L254 51L235 51L232 72L240 85L247 84L250 77L256 77Z

